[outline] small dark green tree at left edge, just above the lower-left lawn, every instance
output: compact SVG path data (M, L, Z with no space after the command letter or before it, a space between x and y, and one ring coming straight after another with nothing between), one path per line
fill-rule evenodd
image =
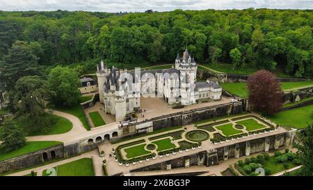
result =
M3 152L17 150L26 144L22 129L17 127L12 120L6 120L0 126L0 140L3 141L0 145L0 150Z

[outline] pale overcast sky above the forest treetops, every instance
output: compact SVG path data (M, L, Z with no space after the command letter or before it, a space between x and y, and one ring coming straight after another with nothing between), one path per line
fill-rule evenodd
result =
M291 8L313 9L313 0L0 0L0 10L86 10L101 12Z

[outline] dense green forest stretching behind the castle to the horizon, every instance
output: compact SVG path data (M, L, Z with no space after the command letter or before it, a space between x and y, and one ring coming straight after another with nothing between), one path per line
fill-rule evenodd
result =
M100 59L122 67L172 63L187 47L198 63L312 77L312 27L312 10L0 11L0 73L22 49L33 67L88 70Z

